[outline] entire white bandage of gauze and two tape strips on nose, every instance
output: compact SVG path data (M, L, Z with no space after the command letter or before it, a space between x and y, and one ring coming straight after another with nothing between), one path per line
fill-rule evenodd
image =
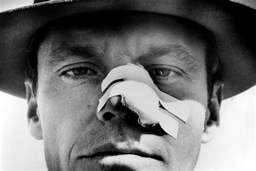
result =
M113 81L120 79L124 81L112 84ZM107 91L105 91L106 88ZM178 122L171 117L171 114L184 122L190 114L190 107L185 102L161 92L153 83L149 73L133 64L111 70L102 82L102 92L104 91L104 95L99 99L98 112L102 110L107 99L121 95L123 105L139 115L139 124L142 126L159 124L175 139L178 134ZM162 112L159 104L168 112Z

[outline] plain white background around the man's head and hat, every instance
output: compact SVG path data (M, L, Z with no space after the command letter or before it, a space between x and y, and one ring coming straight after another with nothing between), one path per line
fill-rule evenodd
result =
M32 2L0 0L0 11ZM255 96L254 86L223 101L217 135L202 144L196 169L256 170ZM46 169L43 141L29 134L26 110L26 100L0 92L1 170Z

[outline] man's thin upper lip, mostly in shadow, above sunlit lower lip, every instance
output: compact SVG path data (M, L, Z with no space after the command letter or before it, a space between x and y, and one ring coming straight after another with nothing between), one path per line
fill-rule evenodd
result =
M142 156L144 158L152 158L155 160L164 161L163 158L152 152L146 152L143 149L139 149L132 145L123 145L122 147L117 147L113 143L106 143L105 145L92 148L85 155L79 156L79 158L97 158L104 155L122 155L122 154L134 154Z

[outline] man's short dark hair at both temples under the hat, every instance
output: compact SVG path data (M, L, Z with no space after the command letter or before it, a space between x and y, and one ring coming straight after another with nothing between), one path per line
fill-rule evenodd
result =
M116 11L117 12L117 11ZM92 15L93 16L93 15ZM116 15L118 16L118 15ZM217 46L215 40L211 33L206 30L203 26L198 23L192 22L191 20L177 17L181 20L185 20L190 24L191 28L195 28L200 32L200 36L206 41L206 74L207 74L207 93L209 101L212 97L213 84L217 80L222 79L222 70L220 58L217 51ZM54 25L60 24L60 22L54 23L55 21L49 22L37 30L36 34L33 36L30 47L29 55L26 60L26 70L25 77L26 81L32 83L32 92L36 96L37 94L37 84L38 84L38 50L43 41L50 35L52 29L55 29Z

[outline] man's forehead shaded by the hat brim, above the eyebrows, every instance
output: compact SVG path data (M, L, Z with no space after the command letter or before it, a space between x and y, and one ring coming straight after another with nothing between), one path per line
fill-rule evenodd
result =
M93 44L102 50L137 46L143 51L149 46L179 44L193 51L205 44L202 30L196 24L153 13L84 13L59 19L49 28L44 42L51 43L51 50L67 44Z

